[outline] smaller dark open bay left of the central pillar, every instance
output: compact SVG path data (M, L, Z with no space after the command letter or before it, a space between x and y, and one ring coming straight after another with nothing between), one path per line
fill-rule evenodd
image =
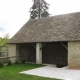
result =
M36 62L36 49L34 48L35 44L32 43L23 43L19 48L19 55L26 62Z

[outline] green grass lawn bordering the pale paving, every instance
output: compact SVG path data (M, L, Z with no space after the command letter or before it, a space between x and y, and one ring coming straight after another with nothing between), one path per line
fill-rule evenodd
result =
M42 65L36 64L13 64L12 66L4 66L3 68L0 68L0 80L59 80L19 73L21 71L38 68L41 66Z

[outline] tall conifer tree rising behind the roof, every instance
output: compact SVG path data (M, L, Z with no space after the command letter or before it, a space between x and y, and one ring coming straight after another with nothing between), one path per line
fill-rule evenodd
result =
M33 0L33 5L30 8L30 19L49 17L48 5L45 0Z

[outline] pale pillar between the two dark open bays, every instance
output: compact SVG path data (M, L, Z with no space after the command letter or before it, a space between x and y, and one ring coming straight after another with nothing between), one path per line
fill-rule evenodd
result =
M36 43L36 64L42 64L42 43Z

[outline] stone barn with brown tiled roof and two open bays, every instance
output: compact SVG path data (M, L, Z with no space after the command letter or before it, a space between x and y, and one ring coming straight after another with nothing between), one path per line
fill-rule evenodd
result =
M26 62L80 67L80 12L29 20L11 38L8 51Z

